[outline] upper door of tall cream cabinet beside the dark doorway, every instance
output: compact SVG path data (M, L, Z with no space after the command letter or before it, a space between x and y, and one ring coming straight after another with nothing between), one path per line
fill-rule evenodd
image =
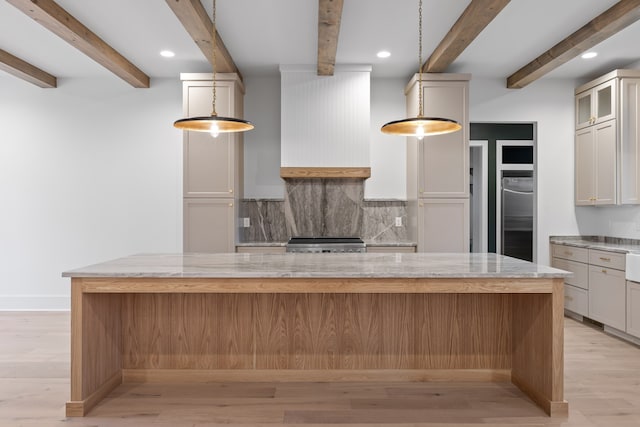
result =
M426 117L453 119L462 129L419 143L418 197L468 197L467 82L425 82L422 92Z

